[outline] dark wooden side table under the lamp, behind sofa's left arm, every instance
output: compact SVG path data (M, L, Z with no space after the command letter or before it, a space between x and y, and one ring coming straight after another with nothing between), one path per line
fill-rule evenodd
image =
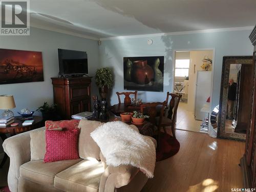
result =
M14 122L13 123L18 123L17 126L11 126L7 125L6 127L0 127L0 137L4 141L7 139L7 134L11 134L11 136L19 134L19 133L24 133L30 130L37 129L42 126L42 117L40 116L33 116L32 119L29 120L34 120L33 124L31 125L26 125L23 126L22 123L26 120L22 116L15 116L14 117ZM5 153L4 158L0 164L0 168L2 168L7 160L7 154Z

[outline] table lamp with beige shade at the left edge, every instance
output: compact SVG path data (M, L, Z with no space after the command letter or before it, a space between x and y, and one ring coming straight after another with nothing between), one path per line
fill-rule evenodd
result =
M15 108L13 95L0 95L0 110L5 110L2 114L3 117L13 117L14 114L9 109Z

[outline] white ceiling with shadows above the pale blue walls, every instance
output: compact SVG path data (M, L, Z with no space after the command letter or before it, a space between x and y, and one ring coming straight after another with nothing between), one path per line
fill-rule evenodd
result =
M31 25L93 38L256 24L256 0L30 0Z

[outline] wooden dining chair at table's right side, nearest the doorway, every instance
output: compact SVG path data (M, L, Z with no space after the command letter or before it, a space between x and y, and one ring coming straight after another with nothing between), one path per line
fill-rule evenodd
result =
M167 114L165 112L165 115L162 117L161 120L157 120L157 125L160 129L161 129L161 127L163 127L163 130L165 133L166 133L165 127L171 126L173 137L176 138L175 126L176 126L176 119L177 119L177 109L178 109L178 105L179 105L180 98L182 97L182 95L176 95L176 94L167 92L167 97L165 100L166 104L168 102L169 96L171 96L172 98L170 99L168 108L167 109L165 108L165 110L168 112L167 112Z

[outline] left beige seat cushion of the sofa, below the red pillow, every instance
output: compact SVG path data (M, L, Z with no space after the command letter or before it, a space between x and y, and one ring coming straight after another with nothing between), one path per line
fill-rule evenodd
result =
M81 159L45 163L44 160L29 161L19 167L20 177L42 185L52 185L54 176L66 168L78 163Z

